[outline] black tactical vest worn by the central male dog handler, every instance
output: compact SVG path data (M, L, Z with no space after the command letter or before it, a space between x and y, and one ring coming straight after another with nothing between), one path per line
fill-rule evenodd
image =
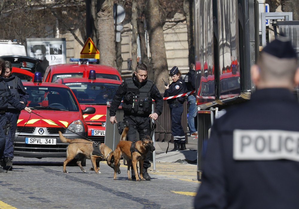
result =
M130 112L136 115L146 115L152 113L152 98L150 96L150 90L153 82L147 80L147 83L138 88L135 86L132 79L125 79L124 82L127 84L128 90L123 97L123 108L124 112Z

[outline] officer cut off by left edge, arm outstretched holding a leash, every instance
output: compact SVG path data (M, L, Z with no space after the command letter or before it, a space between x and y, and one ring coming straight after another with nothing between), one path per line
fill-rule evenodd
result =
M0 59L0 74L5 68L5 61ZM3 156L5 148L5 129L7 129L7 118L5 112L7 111L8 105L12 105L17 110L26 110L28 113L31 113L30 108L26 107L19 99L16 99L11 93L7 83L3 80L3 77L0 77L0 156ZM0 163L0 173L6 173L6 170L3 170Z

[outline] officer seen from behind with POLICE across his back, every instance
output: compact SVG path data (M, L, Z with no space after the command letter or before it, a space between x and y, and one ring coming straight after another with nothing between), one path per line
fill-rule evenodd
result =
M262 50L251 67L258 90L212 127L195 208L298 208L297 67L284 37Z

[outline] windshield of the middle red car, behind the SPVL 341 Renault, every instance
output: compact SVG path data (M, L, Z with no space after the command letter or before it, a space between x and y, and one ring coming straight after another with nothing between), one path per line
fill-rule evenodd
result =
M76 95L80 104L106 105L112 101L119 84L111 83L65 83Z

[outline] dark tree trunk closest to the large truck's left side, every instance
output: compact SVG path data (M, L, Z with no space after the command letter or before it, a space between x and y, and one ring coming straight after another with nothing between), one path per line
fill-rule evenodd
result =
M184 0L184 15L187 23L187 37L188 37L188 50L189 50L189 65L195 63L194 52L194 21L193 21L193 0Z

